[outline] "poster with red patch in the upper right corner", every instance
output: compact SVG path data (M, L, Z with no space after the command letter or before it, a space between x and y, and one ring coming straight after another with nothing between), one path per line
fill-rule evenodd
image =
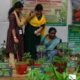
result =
M72 22L73 24L80 24L80 0L72 1Z

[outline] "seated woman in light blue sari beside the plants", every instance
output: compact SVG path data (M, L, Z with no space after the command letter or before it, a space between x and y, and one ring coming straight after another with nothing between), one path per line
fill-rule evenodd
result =
M51 27L48 34L42 38L41 44L46 47L46 55L53 57L56 54L57 45L62 42L60 38L56 36L57 30Z

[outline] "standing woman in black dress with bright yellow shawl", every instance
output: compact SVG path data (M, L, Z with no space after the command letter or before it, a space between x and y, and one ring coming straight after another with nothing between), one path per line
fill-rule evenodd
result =
M46 18L42 13L43 6L37 4L35 10L35 16L25 26L24 33L24 50L30 52L32 59L36 60L36 47L40 43L41 35L44 33Z

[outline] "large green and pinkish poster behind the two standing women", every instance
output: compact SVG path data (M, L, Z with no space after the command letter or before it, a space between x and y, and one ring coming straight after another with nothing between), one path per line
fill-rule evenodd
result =
M13 0L13 3L16 1L24 3L26 14L34 10L37 3L41 3L48 26L65 26L67 24L67 0Z

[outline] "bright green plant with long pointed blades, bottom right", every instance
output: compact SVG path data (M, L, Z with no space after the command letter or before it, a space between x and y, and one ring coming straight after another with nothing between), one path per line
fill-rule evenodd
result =
M54 73L54 77L56 80L69 80L69 71L68 71L67 67L63 73L59 73L57 71L57 68L54 65L51 65L51 66L52 66L52 71ZM76 80L80 80L80 76L78 74L78 69L79 69L79 66L77 66L76 71L74 72L76 75Z

